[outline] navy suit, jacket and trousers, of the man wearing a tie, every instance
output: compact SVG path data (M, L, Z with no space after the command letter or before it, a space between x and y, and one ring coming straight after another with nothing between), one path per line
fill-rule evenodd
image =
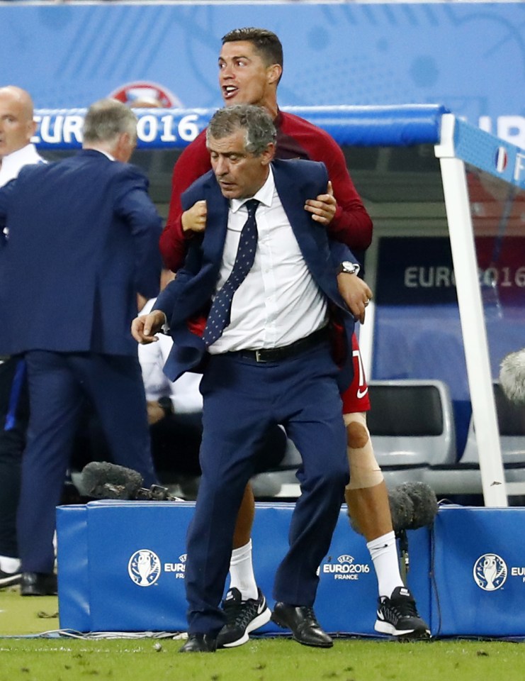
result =
M304 210L306 199L326 192L326 169L322 163L300 160L275 161L272 167L307 267L329 301L332 321L351 338L354 319L337 290L327 232ZM185 581L189 633L215 634L224 624L220 599L237 510L254 470L254 452L275 423L286 428L303 466L290 548L278 569L273 596L304 606L315 600L317 567L329 548L349 475L337 377L351 375L351 357L338 367L328 340L266 363L239 353L205 352L201 332L218 279L229 207L211 172L183 195L184 208L200 199L208 208L204 236L191 240L184 269L160 294L155 308L166 313L174 339L166 375L174 380L185 370L203 369L203 476L188 530Z

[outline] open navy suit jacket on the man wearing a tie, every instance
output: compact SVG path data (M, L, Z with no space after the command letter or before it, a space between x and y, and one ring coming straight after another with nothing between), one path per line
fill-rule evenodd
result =
M337 324L340 333L346 331L350 341L354 317L337 289L334 256L327 231L313 221L304 209L307 199L326 192L326 167L323 163L305 160L275 160L272 167L279 198L307 267L329 299L332 323ZM201 199L205 199L208 208L204 235L191 240L184 268L159 295L154 306L166 314L174 339L174 347L164 367L164 372L171 380L184 371L195 369L203 360L203 321L215 292L227 232L229 201L222 196L212 171L184 192L181 197L184 210ZM351 258L346 246L335 243L332 246L337 249L337 262ZM349 347L346 340L339 345L345 350ZM344 358L339 360L341 384L344 384L351 379L351 353L345 352Z

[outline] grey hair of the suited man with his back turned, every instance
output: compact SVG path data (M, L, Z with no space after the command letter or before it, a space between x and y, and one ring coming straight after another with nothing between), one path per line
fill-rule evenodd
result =
M137 137L137 116L121 101L100 99L84 118L84 142L112 142L118 135Z

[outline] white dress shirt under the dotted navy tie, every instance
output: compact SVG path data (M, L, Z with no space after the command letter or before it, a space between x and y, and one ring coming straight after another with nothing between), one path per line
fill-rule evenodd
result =
M231 321L210 345L211 354L289 345L327 323L327 299L315 283L276 191L273 173L254 196L257 248L252 270L232 301ZM220 276L215 293L230 276L248 199L232 199Z

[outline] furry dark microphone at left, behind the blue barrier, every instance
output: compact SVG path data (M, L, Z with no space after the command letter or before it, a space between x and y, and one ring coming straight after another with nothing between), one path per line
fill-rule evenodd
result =
M95 499L180 501L171 497L166 487L152 485L147 489L143 483L142 475L132 468L91 461L82 469L79 487L81 494Z

